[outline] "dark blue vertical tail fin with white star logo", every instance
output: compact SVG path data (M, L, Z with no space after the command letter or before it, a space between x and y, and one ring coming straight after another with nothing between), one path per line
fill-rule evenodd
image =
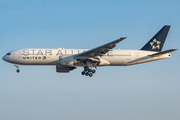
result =
M141 50L161 52L170 26L164 26Z

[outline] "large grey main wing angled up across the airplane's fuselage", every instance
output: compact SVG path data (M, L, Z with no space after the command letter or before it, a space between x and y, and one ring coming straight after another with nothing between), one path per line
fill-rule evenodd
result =
M114 40L114 41L112 41L110 43L107 43L105 45L99 46L97 48L90 49L88 51L76 54L75 58L76 59L87 59L87 58L96 57L96 56L103 56L108 51L111 51L112 48L114 48L117 43L119 43L120 41L124 40L125 38L126 37L122 37L122 38L119 38L118 40Z

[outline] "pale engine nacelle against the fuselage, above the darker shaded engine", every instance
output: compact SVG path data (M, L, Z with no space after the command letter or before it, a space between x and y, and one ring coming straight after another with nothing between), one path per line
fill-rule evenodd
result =
M77 59L73 56L60 56L59 65L61 66L71 66L74 67L74 64L77 63Z

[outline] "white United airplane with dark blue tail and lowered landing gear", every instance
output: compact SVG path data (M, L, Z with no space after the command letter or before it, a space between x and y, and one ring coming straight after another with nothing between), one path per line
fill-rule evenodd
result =
M68 73L77 67L84 67L82 75L92 77L97 67L129 66L171 57L170 52L161 51L170 26L165 25L140 50L113 49L126 37L93 49L21 49L7 53L2 59L13 63L19 73L19 65L55 65L56 72Z

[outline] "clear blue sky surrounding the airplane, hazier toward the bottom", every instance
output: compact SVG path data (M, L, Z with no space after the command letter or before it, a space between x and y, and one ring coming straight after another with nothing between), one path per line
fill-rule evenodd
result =
M0 56L22 48L94 48L127 37L117 49L140 49L171 25L163 50L179 48L178 0L0 0ZM82 68L59 74L55 66L0 61L1 120L180 119L179 50L160 61Z

